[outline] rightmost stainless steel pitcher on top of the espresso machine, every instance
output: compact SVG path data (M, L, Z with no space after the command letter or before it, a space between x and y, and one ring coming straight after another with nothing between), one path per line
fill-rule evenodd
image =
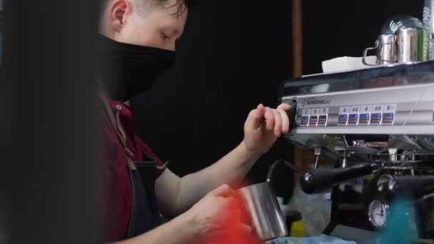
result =
M428 61L429 37L427 29L399 29L396 32L398 63Z

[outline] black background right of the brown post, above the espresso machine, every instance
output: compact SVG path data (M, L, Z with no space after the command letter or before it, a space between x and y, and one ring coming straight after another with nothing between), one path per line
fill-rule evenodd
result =
M423 1L303 1L303 73L321 72L321 61L362 56L374 46L386 19L410 14L422 19Z

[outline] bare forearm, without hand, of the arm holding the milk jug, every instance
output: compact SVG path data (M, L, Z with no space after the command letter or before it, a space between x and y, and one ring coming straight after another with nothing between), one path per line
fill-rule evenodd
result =
M190 244L196 242L198 233L194 219L190 215L183 214L147 233L112 244Z

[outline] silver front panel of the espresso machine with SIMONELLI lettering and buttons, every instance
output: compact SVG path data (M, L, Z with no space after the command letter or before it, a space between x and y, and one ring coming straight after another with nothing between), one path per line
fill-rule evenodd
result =
M434 83L283 97L283 102L293 100L298 109L289 138L301 133L434 135ZM318 116L328 119L309 123Z

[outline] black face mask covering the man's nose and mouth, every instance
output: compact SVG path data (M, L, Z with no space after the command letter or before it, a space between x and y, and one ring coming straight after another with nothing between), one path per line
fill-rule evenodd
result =
M127 101L148 90L175 62L175 52L137 46L99 36L98 78L116 101Z

